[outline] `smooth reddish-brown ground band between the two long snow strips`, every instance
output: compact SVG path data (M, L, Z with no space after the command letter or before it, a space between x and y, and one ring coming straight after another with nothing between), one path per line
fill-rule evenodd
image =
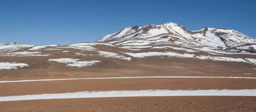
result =
M0 96L148 89L256 89L256 79L134 78L0 83Z

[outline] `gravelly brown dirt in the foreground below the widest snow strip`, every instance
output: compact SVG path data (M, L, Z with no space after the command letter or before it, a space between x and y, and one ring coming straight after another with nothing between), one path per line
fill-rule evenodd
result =
M0 112L256 112L256 97L182 96L0 102Z

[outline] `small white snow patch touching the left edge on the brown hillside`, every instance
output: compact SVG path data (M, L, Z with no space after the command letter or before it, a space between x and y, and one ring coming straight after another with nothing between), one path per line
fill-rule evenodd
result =
M25 63L16 63L16 62L0 62L0 69L18 69L17 67L29 66Z

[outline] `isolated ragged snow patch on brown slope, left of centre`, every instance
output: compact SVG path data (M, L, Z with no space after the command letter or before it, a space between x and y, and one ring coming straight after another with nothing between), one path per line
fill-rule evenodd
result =
M79 61L79 60L80 59L73 59L73 58L49 59L49 61L67 63L67 66L76 66L76 67L93 66L97 62L101 62L99 60L88 60L88 61Z

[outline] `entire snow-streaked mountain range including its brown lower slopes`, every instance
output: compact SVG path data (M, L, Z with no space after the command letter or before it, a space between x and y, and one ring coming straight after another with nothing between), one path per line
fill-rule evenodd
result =
M176 23L127 27L96 40L96 43L73 43L64 46L8 43L0 46L2 63L8 60L12 62L10 65L17 62L27 64L22 69L57 68L61 71L73 70L74 67L85 71L91 67L131 70L140 68L143 71L165 68L157 71L167 69L169 73L176 70L166 67L177 66L189 69L183 73L236 71L253 74L256 73L255 56L256 39L240 32L215 28L189 31ZM145 69L145 66L151 67ZM15 66L9 68L21 69ZM176 72L180 73L180 70Z

